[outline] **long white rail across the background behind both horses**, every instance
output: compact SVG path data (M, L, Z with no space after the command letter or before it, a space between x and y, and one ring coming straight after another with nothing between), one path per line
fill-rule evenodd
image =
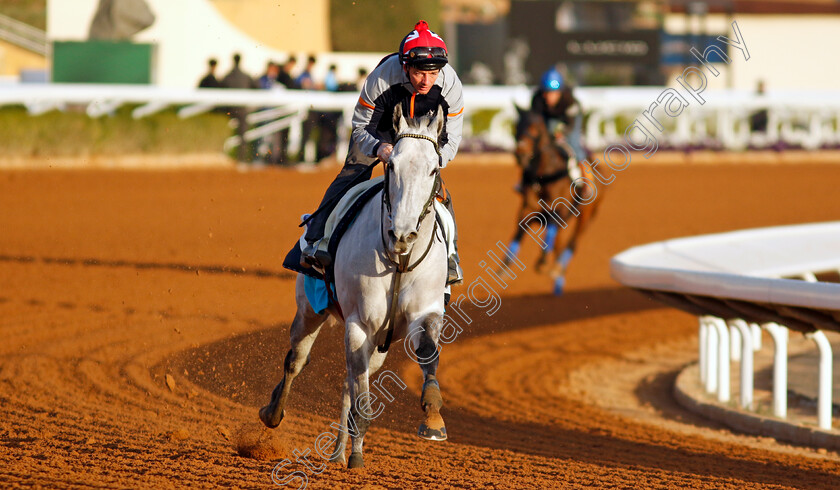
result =
M464 136L475 136L471 118L480 110L498 111L488 131L480 139L487 146L510 150L514 146L512 124L514 104L528 107L531 88L525 86L465 86ZM593 150L624 142L624 132L633 120L648 127L642 112L662 95L666 87L579 87L575 95L588 118L583 128L584 140ZM683 94L684 95L684 94ZM688 96L686 96L688 97ZM740 150L747 147L795 145L806 149L840 146L840 91L777 91L764 96L736 90L709 90L703 93L704 104L690 103L676 117L656 109L657 120L664 126L654 132L660 147L723 147ZM148 85L87 84L5 84L0 87L0 107L25 105L32 114L63 109L68 104L84 105L91 117L108 114L122 104L139 104L135 117L144 117L169 106L180 107L179 114L189 117L217 106L251 108L283 107L289 113L313 108L343 113L343 129L349 129L350 116L358 93L328 93L301 90L222 90L179 89ZM752 133L750 116L767 110L767 131ZM299 113L300 114L300 113ZM291 124L300 121L292 120ZM263 130L265 131L265 130ZM345 131L342 131L345 133ZM638 138L638 136L636 136Z

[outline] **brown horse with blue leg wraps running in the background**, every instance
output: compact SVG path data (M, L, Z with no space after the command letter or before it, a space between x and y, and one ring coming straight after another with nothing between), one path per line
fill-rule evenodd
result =
M516 124L515 155L516 163L522 169L519 188L522 207L509 248L516 255L525 233L538 236L539 240L535 238L535 241L542 250L537 260L537 270L545 271L551 276L554 281L554 294L561 295L566 284L566 271L577 242L595 215L603 196L593 194L598 190L594 188L590 170L577 161L574 150L562 136L555 137L550 134L545 120L538 114L519 107L517 111L519 121ZM579 185L573 188L572 182L578 177L587 177L589 182L593 182L593 187ZM603 188L600 192L603 192ZM560 222L552 218L546 209L551 203L558 202L558 198L564 198L566 202L571 203L570 207L555 208ZM540 201L543 202L543 206L540 205ZM582 205L580 201L587 204ZM532 226L534 223L540 225L536 230ZM546 264L549 262L552 265L546 270Z

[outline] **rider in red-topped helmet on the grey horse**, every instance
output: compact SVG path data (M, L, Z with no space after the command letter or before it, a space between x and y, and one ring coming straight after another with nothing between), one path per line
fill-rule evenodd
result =
M332 262L328 253L318 250L329 213L353 184L370 179L379 161L388 163L396 136L393 113L397 104L412 118L434 114L438 107L445 111L447 117L438 141L441 168L455 158L461 142L464 99L461 80L447 62L446 43L421 20L403 38L399 52L386 56L368 75L353 112L347 159L309 221L301 266L327 267ZM452 214L451 197L446 196L445 203ZM457 243L457 236L455 239ZM455 252L450 256L447 284L463 281Z

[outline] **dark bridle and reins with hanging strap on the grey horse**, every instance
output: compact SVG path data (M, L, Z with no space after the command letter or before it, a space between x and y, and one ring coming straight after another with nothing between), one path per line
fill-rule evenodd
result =
M414 133L402 133L397 135L396 141L394 141L394 146L396 146L397 142L399 142L402 138L415 138L415 139L422 139L431 142L435 145L435 153L437 153L438 157L440 157L440 147L438 146L438 142L436 139L432 138L431 136L426 136L423 134L414 134ZM382 328L387 331L385 335L385 342L377 346L377 350L380 353L388 352L388 348L391 346L391 339L394 336L394 319L397 314L397 302L399 299L398 291L400 289L400 282L402 280L402 275L406 272L413 271L421 262L426 258L429 254L429 251L432 249L432 243L435 241L435 235L437 234L438 223L437 220L435 221L434 227L432 228L432 233L429 236L429 243L426 245L426 249L423 251L423 255L420 256L417 261L413 264L410 264L411 259L411 252L414 250L412 247L408 253L403 255L398 255L397 260L394 260L391 257L391 254L388 252L388 245L385 240L385 211L387 210L388 216L391 216L391 192L390 192L390 178L389 174L393 169L393 164L385 163L385 179L384 179L384 188L382 189L382 223L379 226L379 236L382 238L382 249L385 253L385 256L388 260L396 266L396 273L394 274L394 283L393 288L391 288L391 308L389 310L388 316L385 318L385 323L382 325ZM416 230L420 230L420 224L423 222L423 219L429 212L432 210L432 203L435 200L435 196L438 193L438 188L440 187L440 167L438 166L435 169L435 183L432 186L432 192L429 195L429 198L426 200L426 204L423 205L423 211L420 213L420 217L417 219L417 226ZM409 265L410 264L410 265Z

